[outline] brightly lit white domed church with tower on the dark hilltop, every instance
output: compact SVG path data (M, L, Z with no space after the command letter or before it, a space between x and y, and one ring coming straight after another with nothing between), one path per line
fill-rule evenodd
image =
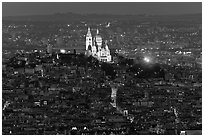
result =
M97 29L96 36L92 37L91 30L88 28L86 34L86 55L93 56L102 62L111 62L110 50L107 45L107 41L103 43L102 37L99 35Z

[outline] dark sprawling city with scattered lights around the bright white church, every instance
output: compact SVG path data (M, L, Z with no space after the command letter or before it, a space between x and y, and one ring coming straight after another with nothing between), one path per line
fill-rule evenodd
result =
M201 134L201 15L110 18L3 19L2 134ZM88 28L110 62L85 54Z

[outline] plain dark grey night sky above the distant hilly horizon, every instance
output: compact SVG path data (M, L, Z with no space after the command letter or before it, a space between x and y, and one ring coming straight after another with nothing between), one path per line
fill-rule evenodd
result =
M3 16L53 13L193 14L202 13L201 2L3 2Z

